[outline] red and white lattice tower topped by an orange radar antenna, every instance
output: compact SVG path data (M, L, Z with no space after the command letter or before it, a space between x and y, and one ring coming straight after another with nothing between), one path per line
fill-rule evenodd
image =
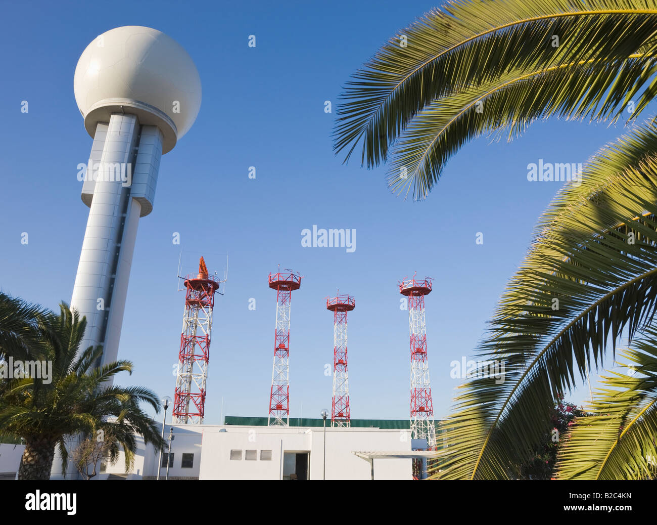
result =
M208 275L203 257L198 276L185 277L185 313L180 336L178 372L173 398L173 422L202 424L210 361L214 293L221 281Z

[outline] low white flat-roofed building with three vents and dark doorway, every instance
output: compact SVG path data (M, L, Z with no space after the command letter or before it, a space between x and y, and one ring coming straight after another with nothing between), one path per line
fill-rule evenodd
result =
M329 422L330 425L330 422ZM166 425L168 438L171 425ZM407 429L267 427L250 425L173 425L169 479L198 480L369 480L371 464L356 451L411 453ZM415 440L413 440L415 441ZM418 445L419 443L413 443ZM124 459L103 466L97 479L153 479L159 453L139 441L133 469ZM160 480L168 457L162 454ZM374 459L374 479L411 480L411 459ZM326 470L325 470L326 469Z

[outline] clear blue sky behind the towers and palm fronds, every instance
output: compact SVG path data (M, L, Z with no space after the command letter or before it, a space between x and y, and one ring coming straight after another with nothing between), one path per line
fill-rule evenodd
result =
M193 57L203 101L191 131L161 162L154 211L141 219L131 271L122 384L173 397L183 292L179 257L204 255L223 275L215 306L206 422L223 414L265 416L276 294L267 274L305 276L292 295L290 416L330 409L332 313L325 298L349 293L353 418L409 416L408 313L397 281L434 278L426 298L436 418L459 380L450 363L472 355L562 183L528 182L527 164L585 162L622 126L552 120L512 143L481 138L464 147L421 203L386 186L385 168L342 164L330 133L340 86L397 30L434 4L422 1L5 3L0 18L0 288L57 308L70 301L88 209L76 166L91 137L73 93L78 57L117 26L156 28ZM256 47L248 47L248 36ZM29 112L20 112L27 100ZM356 159L357 160L357 159ZM248 178L256 166L256 178ZM356 249L302 247L304 228L350 228ZM29 244L21 234L28 232ZM173 232L181 245L173 245ZM484 243L475 243L477 232ZM256 299L256 310L248 309ZM587 396L581 390L573 401Z

